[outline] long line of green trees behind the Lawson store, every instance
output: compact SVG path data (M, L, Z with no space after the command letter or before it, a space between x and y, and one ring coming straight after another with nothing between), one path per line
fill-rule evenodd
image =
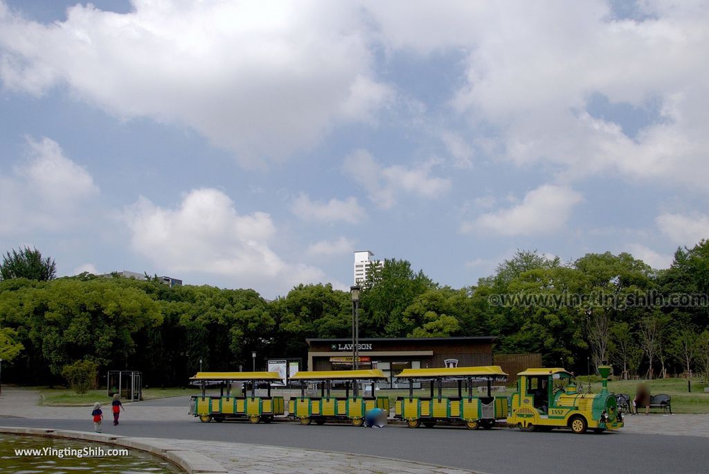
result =
M350 294L331 285L268 301L255 290L157 279L55 279L53 260L37 250L6 253L8 264L19 269L0 271L0 358L11 382L60 383L68 365L89 360L101 373L140 370L150 386L184 385L200 360L204 370L250 370L255 351L264 369L267 358L306 360L306 338L351 337ZM621 376L709 370L709 241L679 248L666 270L629 253L562 263L520 250L460 289L406 260L369 275L360 337L491 335L496 353L541 353L545 365L576 373L604 360ZM673 303L677 295L704 299Z

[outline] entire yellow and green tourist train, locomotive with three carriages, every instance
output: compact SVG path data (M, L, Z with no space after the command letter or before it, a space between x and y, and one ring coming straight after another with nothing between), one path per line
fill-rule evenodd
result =
M603 383L598 394L581 393L574 375L563 368L529 368L518 373L516 389L507 396L493 385L507 381L498 365L405 369L397 380L408 395L396 397L393 419L410 428L446 424L492 429L506 424L522 431L564 428L576 434L621 428L623 413L608 391L610 366L598 370ZM377 369L298 372L289 382L300 394L287 402L271 395L272 384L283 383L276 372L200 372L191 380L201 387L201 395L191 397L189 413L203 422L291 419L303 425L344 421L362 426L370 410L390 410L389 397L375 395L376 383L386 380ZM232 392L234 385L240 393ZM256 395L259 385L266 395ZM219 394L208 395L208 387L218 387ZM428 393L422 396L424 387Z

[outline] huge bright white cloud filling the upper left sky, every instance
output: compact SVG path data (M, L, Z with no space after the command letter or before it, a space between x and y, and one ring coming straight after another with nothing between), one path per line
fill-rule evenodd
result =
M374 77L356 4L135 0L28 21L0 3L0 77L43 94L67 84L121 118L186 124L242 162L282 158L392 97Z

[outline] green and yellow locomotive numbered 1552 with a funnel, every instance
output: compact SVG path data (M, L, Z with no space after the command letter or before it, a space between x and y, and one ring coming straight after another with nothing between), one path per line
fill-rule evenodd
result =
M598 394L580 393L574 375L562 368L530 368L520 372L517 391L510 398L508 426L522 431L571 428L576 434L592 429L623 427L623 414L608 392L610 366L598 367L603 387Z

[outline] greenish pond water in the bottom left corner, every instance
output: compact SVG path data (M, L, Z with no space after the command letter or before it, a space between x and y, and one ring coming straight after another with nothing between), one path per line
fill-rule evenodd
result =
M128 456L88 456L77 457L66 455L58 456L51 453L48 456L16 456L16 449L44 449L63 450L65 448L81 451L87 448L96 452L99 448L121 449L121 446L110 446L90 441L72 439L44 438L41 436L18 436L0 434L0 473L34 474L34 473L182 473L167 461L151 456L150 454L135 449L128 450ZM65 451L67 453L68 451Z

